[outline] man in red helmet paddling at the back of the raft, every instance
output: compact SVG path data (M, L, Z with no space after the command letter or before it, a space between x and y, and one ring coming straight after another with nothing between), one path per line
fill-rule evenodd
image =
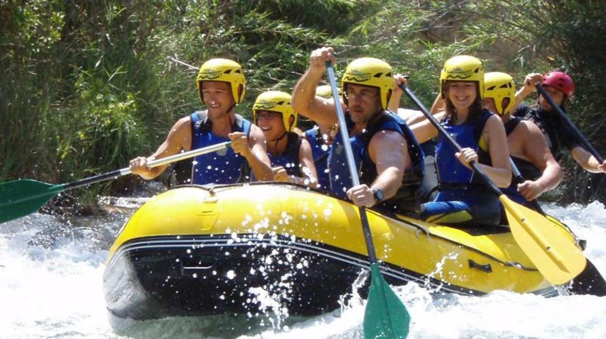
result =
M522 102L530 93L536 90L535 84L538 83L544 87L553 101L565 112L566 104L574 95L574 82L564 72L549 72L545 75L538 73L528 74L524 79L524 87L516 92L515 103ZM522 103L518 106L514 115L530 120L539 126L556 160L559 161L562 158L563 150L567 148L570 150L574 161L588 172L606 172L606 161L599 163L588 150L582 147L581 141L567 129L562 118L554 110L554 107L551 107L548 100L539 95L536 104L528 106Z

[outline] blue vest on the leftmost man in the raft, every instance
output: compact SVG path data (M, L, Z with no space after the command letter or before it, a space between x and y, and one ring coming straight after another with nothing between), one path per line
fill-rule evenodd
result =
M191 149L200 149L202 147L230 141L229 138L216 136L211 132L211 121L206 115L206 111L194 112L190 115L192 127ZM244 132L250 135L251 123L247 119L236 115L236 120L231 126L232 132ZM207 153L196 156L192 169L193 184L233 184L245 181L251 181L250 168L248 162L239 154L236 154L231 147L219 150L213 153Z

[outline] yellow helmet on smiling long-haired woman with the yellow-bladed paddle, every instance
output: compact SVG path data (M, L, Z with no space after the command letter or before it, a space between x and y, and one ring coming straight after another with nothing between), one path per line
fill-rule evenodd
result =
M445 81L477 81L480 99L484 96L484 64L469 55L458 55L444 63L440 73L440 95L444 98Z

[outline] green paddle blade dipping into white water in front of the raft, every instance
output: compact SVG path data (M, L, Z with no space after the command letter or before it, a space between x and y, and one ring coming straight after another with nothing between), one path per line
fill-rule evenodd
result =
M379 270L370 264L370 290L364 313L364 338L406 338L410 315Z

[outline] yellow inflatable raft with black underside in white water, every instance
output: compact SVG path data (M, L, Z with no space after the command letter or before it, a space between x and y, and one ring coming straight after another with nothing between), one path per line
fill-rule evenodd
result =
M393 286L558 293L505 226L458 229L374 210L368 221ZM367 268L358 208L347 201L278 183L182 186L127 221L110 249L104 291L119 318L254 315L262 296L290 315L313 315L338 308Z

